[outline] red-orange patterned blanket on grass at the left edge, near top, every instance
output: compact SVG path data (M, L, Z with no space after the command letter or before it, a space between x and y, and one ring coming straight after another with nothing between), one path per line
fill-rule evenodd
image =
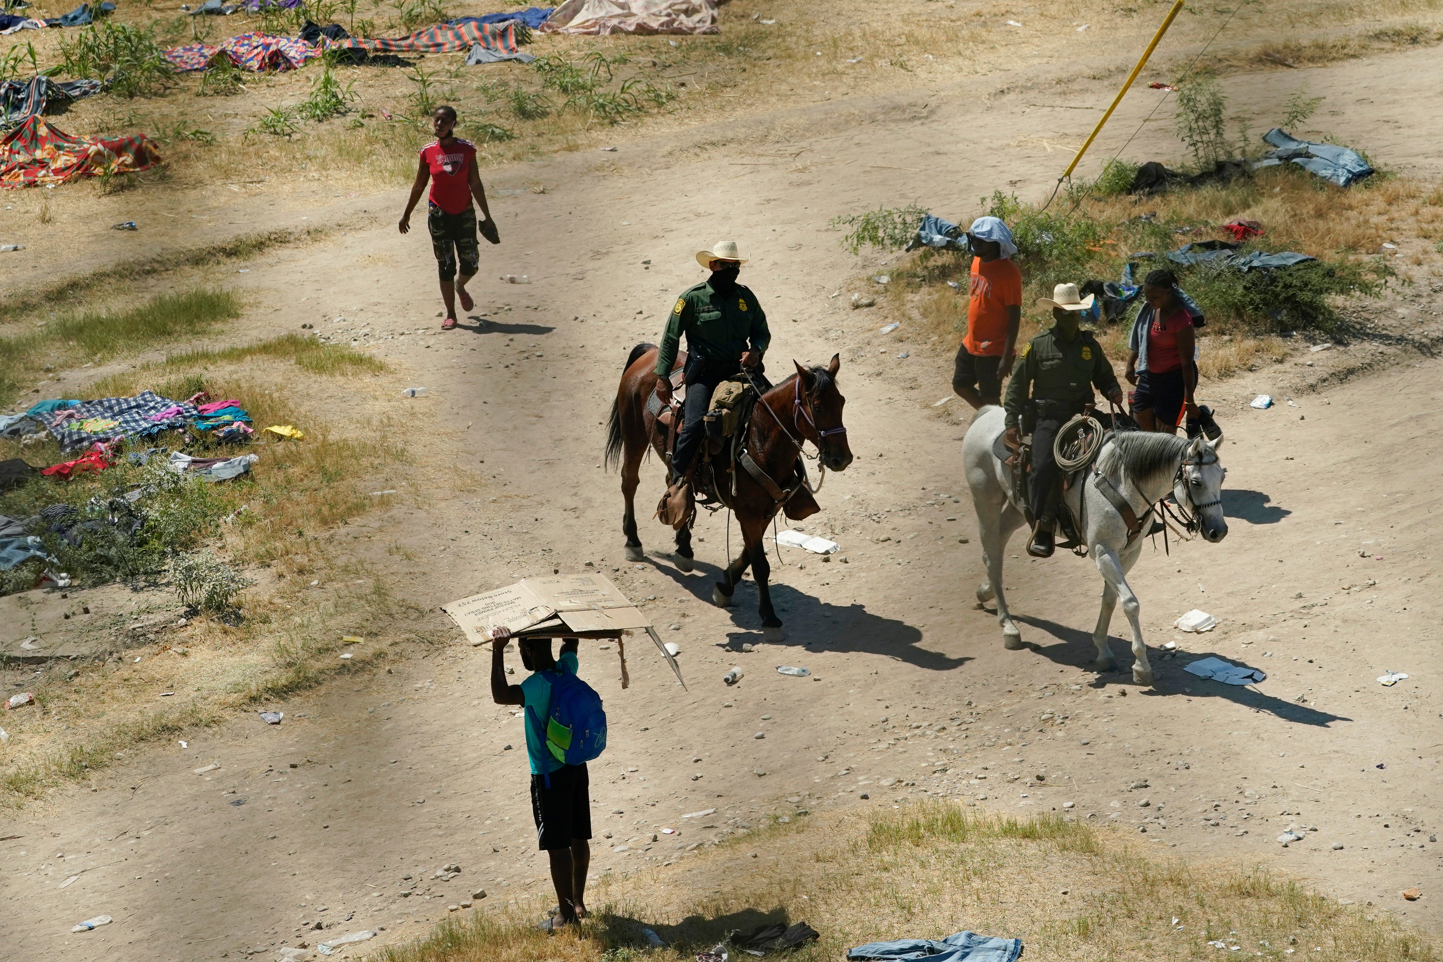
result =
M102 172L133 173L160 163L160 153L144 134L134 137L71 137L40 117L0 138L0 187L63 183Z

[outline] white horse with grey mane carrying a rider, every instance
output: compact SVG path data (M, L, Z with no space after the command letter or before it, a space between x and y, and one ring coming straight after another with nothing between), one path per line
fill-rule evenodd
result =
M1022 633L1007 612L1001 558L1007 539L1023 526L1025 518L1022 506L1013 499L1007 466L993 453L993 444L1004 430L1003 421L1000 407L988 405L977 412L962 440L962 464L973 489L973 508L977 511L983 561L987 565L987 581L977 588L977 600L997 600L1003 648L1019 649L1023 648ZM1137 620L1137 596L1127 584L1127 573L1141 552L1143 538L1152 526L1153 506L1169 490L1183 512L1196 519L1203 538L1216 544L1227 537L1228 522L1222 516L1222 479L1227 470L1216 453L1221 444L1221 437L1216 441L1203 437L1190 441L1163 433L1114 434L1098 451L1094 467L1084 469L1082 483L1074 483L1065 492L1063 502L1074 518L1081 518L1081 537L1097 570L1102 573L1102 607L1092 630L1095 665L1100 671L1115 666L1107 643L1107 629L1113 620L1113 609L1121 599L1123 612L1133 625L1133 681L1140 685L1153 684L1143 629ZM1098 487L1100 477L1105 479L1104 487L1111 486L1130 506L1136 518L1131 535L1123 512Z

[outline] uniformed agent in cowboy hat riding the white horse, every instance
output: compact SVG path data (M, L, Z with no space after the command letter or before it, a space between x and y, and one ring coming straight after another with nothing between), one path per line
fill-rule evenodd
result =
M1038 307L1052 309L1053 325L1023 346L1007 382L1006 443L1017 450L1022 436L1032 434L1027 499L1036 524L1027 554L1035 558L1051 558L1053 551L1061 469L1052 443L1058 430L1094 404L1094 385L1113 404L1123 402L1123 388L1102 345L1091 330L1079 327L1081 312L1091 306L1092 296L1079 297L1076 284L1058 284L1052 297L1039 299Z

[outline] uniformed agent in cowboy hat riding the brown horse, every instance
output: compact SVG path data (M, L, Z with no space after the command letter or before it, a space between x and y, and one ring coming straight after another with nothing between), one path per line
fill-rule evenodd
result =
M772 342L766 313L745 284L736 278L749 258L742 257L736 241L717 241L709 251L697 251L697 262L711 277L687 288L677 299L661 335L657 353L657 397L671 404L671 366L677 361L681 335L687 336L684 369L687 398L677 449L671 462L671 483L687 480L697 450L706 436L703 418L711 407L717 385L734 378L745 368L753 379L769 387L762 376L762 355ZM765 388L763 388L765 389Z

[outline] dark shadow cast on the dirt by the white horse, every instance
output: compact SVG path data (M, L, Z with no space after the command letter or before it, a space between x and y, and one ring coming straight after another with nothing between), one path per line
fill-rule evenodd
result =
M1092 658L1095 656L1097 649L1092 646L1091 632L1068 627L1040 617L1020 616L1020 620L1058 639L1058 643L1055 645L1029 643L1027 648L1052 659L1053 663L1082 668L1085 671L1092 669ZM1159 652L1159 655L1162 653L1163 652ZM1317 725L1320 728L1326 728L1335 721L1352 721L1352 718L1345 715L1317 711L1316 708L1309 708L1307 705L1294 701L1283 701L1281 698L1263 694L1254 687L1225 685L1219 681L1199 678L1198 675L1190 675L1183 671L1183 668L1186 668L1190 662L1208 656L1221 658L1228 663L1240 663L1235 658L1219 655L1216 652L1188 650L1182 653L1182 658L1176 659L1156 658L1153 661L1153 669L1156 672L1154 687L1147 689L1139 685L1140 694L1157 698L1170 698L1176 695L1185 695L1188 698L1227 698L1237 705L1253 708L1254 711L1266 711L1284 721L1296 721L1297 724ZM1251 668L1251 665L1248 665L1248 668ZM1123 666L1118 666L1114 674L1123 674L1124 671L1126 669ZM1264 674L1267 674L1266 669ZM1098 689L1104 688L1107 685L1105 678L1107 675L1098 675L1091 687ZM1130 678L1124 675L1124 682L1126 681L1130 681ZM1266 685L1267 682L1263 684Z

